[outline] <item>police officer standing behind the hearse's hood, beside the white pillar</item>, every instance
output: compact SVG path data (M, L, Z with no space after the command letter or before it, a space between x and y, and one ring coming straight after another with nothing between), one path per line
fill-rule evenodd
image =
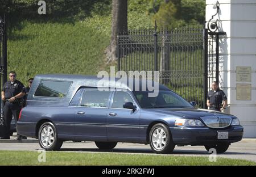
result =
M222 101L224 101L223 105ZM212 110L222 111L227 104L228 102L224 91L218 88L218 83L216 81L212 82L212 90L208 92L207 96L207 106Z

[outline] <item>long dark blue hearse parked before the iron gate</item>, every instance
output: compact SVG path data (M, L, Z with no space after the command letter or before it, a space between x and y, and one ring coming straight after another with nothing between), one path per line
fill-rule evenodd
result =
M236 116L196 109L163 85L158 96L149 97L150 91L135 91L123 82L112 87L109 81L102 91L100 81L85 75L37 75L20 111L18 134L38 138L46 150L72 140L94 141L100 149L113 149L117 142L150 144L155 153L171 153L175 145L224 153L242 139ZM140 88L143 84L142 79Z

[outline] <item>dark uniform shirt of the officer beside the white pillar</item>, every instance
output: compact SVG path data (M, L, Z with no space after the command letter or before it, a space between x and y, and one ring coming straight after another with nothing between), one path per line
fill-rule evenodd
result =
M226 95L224 91L218 89L216 92L214 90L210 90L208 92L207 99L210 100L210 104L214 104L215 106L220 106L222 100L226 100Z

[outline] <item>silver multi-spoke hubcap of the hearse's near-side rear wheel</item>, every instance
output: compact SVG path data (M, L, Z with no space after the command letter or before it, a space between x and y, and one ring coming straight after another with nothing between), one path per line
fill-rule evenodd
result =
M53 141L55 140L55 133L50 126L46 126L41 131L41 142L43 146L49 147L53 144Z

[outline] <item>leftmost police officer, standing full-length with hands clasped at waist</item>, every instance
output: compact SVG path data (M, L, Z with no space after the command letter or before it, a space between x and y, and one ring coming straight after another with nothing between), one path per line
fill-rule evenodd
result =
M20 81L16 80L16 73L10 71L10 81L7 81L3 85L1 92L1 98L5 103L3 107L5 135L1 139L10 139L10 124L11 119L14 116L15 121L18 121L19 112L21 109L20 99L25 95L24 85ZM17 135L17 140L20 140L22 136Z

